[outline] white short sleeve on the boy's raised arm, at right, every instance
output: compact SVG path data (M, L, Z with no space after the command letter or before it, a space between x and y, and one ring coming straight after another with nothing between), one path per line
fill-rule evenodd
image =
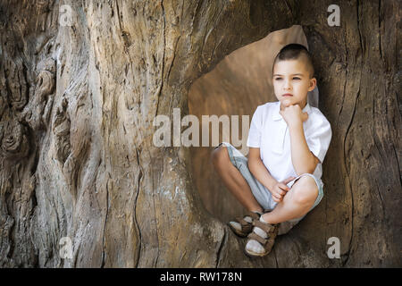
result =
M312 130L306 137L306 143L314 156L320 160L320 163L323 162L328 148L330 147L331 137L332 131L330 122L328 122L323 115L314 120Z

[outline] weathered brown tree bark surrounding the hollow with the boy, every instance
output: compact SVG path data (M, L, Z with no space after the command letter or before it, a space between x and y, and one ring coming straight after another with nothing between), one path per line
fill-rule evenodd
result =
M321 1L71 1L71 26L63 4L0 4L1 266L402 265L398 1L342 2L340 27ZM294 24L332 124L326 196L252 261L205 211L189 148L155 147L153 121L188 114L197 78Z

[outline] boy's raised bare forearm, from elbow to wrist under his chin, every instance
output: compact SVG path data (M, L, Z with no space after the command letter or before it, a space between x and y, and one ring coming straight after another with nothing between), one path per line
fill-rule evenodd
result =
M307 145L303 122L289 124L289 134L292 164L297 176L305 172L313 173L319 160Z

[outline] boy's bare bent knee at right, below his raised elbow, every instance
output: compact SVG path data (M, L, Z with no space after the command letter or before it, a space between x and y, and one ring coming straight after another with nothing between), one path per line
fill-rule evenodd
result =
M292 186L295 202L299 205L312 205L318 196L318 187L314 178L303 176Z

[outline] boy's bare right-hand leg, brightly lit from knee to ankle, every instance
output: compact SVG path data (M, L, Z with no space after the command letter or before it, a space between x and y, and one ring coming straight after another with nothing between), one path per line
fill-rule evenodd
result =
M310 176L300 177L272 212L263 214L265 223L282 223L307 214L318 196L318 188Z

